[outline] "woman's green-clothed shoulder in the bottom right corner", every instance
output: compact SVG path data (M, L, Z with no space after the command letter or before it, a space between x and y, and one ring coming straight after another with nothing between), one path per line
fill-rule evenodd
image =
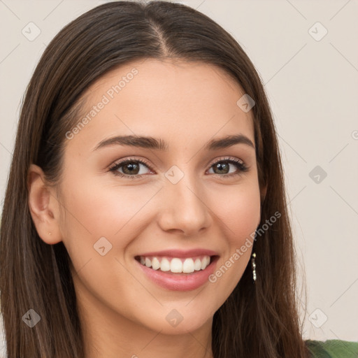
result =
M328 341L305 341L313 358L357 358L358 342L330 339Z

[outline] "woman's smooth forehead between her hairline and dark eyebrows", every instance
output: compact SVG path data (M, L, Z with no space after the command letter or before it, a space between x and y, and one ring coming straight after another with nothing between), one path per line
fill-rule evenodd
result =
M252 111L236 102L244 92L217 66L203 62L145 59L114 69L84 95L71 145L93 149L113 134L156 136L173 146L245 134L253 143ZM84 120L87 118L87 120ZM171 144L169 144L169 149Z

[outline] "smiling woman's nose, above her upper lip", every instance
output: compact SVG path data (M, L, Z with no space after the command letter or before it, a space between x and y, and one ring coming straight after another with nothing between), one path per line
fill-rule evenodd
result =
M194 178L185 175L179 182L168 181L161 190L159 227L164 231L195 236L210 226L207 194Z

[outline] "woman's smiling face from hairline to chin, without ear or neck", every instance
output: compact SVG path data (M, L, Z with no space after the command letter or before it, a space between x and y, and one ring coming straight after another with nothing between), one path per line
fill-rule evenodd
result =
M214 66L154 59L87 91L66 134L59 230L88 320L100 311L183 334L211 322L234 290L260 219L243 94ZM227 136L238 140L209 148Z

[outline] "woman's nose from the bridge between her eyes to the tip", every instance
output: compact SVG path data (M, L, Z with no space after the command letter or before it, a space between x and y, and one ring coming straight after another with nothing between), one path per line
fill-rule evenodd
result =
M185 235L195 234L209 224L208 207L199 179L186 169L172 166L166 172L164 203L159 224L164 230L178 229Z

